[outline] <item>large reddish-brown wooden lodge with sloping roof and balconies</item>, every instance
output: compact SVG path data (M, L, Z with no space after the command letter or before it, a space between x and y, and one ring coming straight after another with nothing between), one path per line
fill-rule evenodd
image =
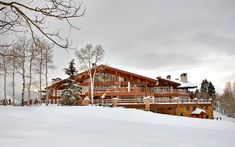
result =
M82 99L90 97L90 80L88 71L78 74L75 81L82 86ZM57 103L61 97L64 80L54 81L47 87L48 99ZM188 84L187 74L183 73L179 80L157 77L148 78L106 65L96 67L94 83L94 104L136 108L170 115L200 118L213 118L210 101L193 97L190 89L196 88ZM102 95L105 97L101 99ZM115 102L115 104L114 104ZM81 102L82 104L82 102ZM196 108L204 110L195 114ZM197 109L197 110L198 110Z

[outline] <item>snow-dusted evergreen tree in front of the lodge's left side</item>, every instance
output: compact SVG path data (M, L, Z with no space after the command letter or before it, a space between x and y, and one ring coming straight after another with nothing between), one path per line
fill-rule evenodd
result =
M62 105L76 105L76 101L80 99L82 93L81 86L75 82L75 74L77 70L75 68L74 59L70 61L69 67L65 68L65 73L69 75L67 82L64 84L65 89L62 91L62 98L60 103Z

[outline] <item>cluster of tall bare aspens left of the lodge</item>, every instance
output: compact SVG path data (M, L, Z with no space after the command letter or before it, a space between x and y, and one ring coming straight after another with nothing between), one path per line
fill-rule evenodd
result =
M0 46L0 74L3 77L3 99L12 91L15 103L16 83L22 83L21 104L29 104L33 90L41 97L42 86L48 86L48 69L53 68L53 46L46 41L22 37L16 43ZM21 82L16 77L21 77ZM7 85L10 83L11 87ZM39 87L39 88L38 88ZM11 88L11 90L9 89Z

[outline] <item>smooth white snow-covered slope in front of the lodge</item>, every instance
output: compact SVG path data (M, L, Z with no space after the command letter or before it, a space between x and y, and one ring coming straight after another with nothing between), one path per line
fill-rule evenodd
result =
M104 107L0 106L1 147L235 147L235 123Z

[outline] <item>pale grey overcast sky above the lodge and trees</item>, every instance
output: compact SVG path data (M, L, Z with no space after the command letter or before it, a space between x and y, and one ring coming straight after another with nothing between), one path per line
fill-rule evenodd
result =
M235 81L235 1L84 0L85 17L73 22L73 46L100 44L104 64L155 78L188 73L190 82L212 81L217 91ZM58 24L53 24L58 25ZM61 26L61 29L63 26ZM55 48L56 70L74 57ZM78 65L78 64L77 64Z

